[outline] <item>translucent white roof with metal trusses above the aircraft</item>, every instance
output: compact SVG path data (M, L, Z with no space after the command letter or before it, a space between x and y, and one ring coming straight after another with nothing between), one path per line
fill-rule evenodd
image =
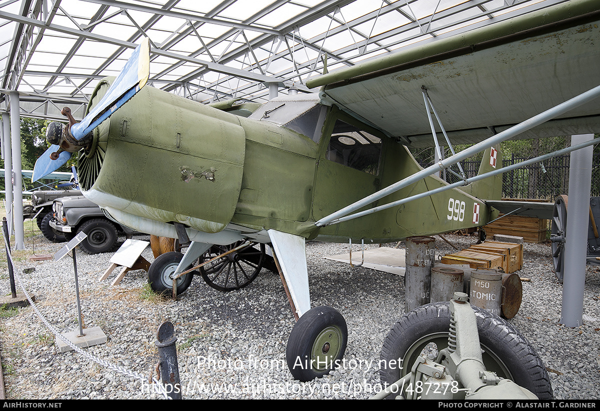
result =
M144 37L154 87L207 104L232 96L266 102L271 83L281 94L292 85L314 92L305 82L324 70L564 1L5 1L0 108L10 90L83 104Z

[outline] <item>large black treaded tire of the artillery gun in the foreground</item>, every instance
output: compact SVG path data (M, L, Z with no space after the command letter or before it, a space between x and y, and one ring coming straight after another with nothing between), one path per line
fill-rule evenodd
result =
M550 377L535 349L511 324L473 307L485 367L511 379L541 400L553 398ZM383 340L379 376L391 384L410 373L425 350L435 355L448 347L449 303L427 304L404 315ZM431 358L431 356L430 356Z

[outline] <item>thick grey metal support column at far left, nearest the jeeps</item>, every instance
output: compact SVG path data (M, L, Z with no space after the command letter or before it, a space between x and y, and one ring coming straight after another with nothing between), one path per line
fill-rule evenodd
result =
M10 134L13 153L13 219L14 248L25 249L23 229L23 174L21 170L21 122L19 93L10 92Z

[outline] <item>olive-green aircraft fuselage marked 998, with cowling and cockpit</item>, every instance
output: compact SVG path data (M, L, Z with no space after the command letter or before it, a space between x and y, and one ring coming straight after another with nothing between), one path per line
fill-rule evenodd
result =
M109 83L98 85L92 105ZM212 244L268 242L268 229L388 242L488 219L481 200L454 189L349 222L314 224L420 169L406 147L317 95L275 99L246 118L154 87L94 130L78 166L85 195L119 223L175 238L177 222L191 240ZM427 177L383 201L444 184ZM470 212L476 203L477 221Z

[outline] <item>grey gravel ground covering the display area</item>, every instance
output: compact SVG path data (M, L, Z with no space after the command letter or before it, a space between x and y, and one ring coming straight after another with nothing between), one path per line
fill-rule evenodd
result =
M460 248L476 241L446 238ZM55 253L62 245L41 235L33 241L34 249L28 239L26 250L14 252L16 272L56 332L78 330L72 259L29 261L33 252ZM453 251L438 237L436 248L437 255ZM53 331L32 307L2 318L7 398L163 398L147 378L140 379L151 375L157 362L155 334L163 321L175 325L184 398L368 398L379 383L376 364L383 339L404 313L404 286L393 274L322 258L347 249L347 244L307 244L312 306L334 307L349 330L346 365L322 379L300 383L287 370L285 350L294 320L277 274L263 270L250 286L229 293L196 277L172 301L149 292L144 271L128 273L117 286L110 286L113 277L98 281L112 254L77 252L84 324L100 327L108 342L85 349L86 355L60 353ZM149 247L143 256L152 261ZM23 274L26 267L35 271ZM0 286L6 295L10 288L4 271ZM584 325L560 325L562 286L552 272L550 245L525 244L518 274L531 281L523 282L523 303L510 322L538 350L557 399L600 398L600 269L588 266L586 271Z

